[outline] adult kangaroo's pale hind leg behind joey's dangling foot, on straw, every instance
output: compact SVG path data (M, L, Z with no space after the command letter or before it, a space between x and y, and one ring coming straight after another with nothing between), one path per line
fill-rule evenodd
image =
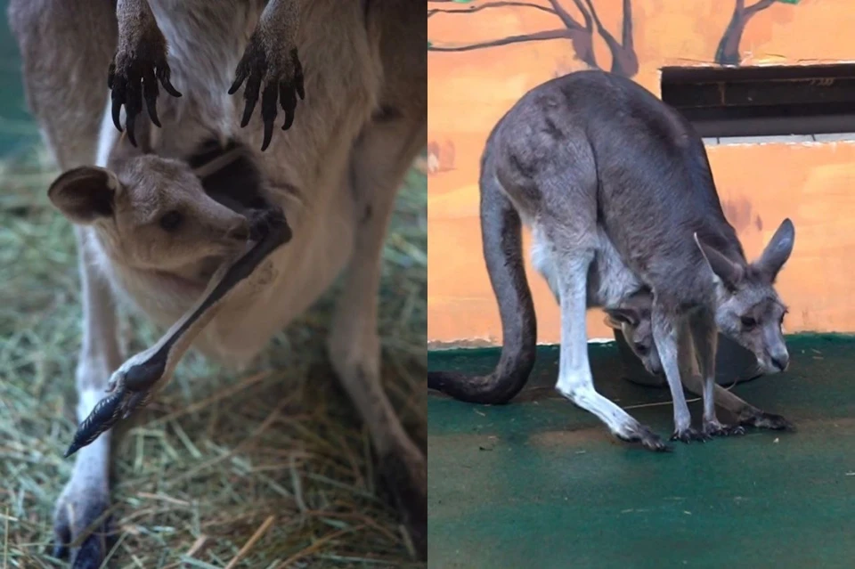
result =
M107 386L110 372L121 362L118 319L110 287L94 273L82 232L75 228L83 299L83 342L77 361L77 419L93 410ZM110 547L110 432L81 451L71 478L56 502L53 514L54 557L70 555L73 569L100 567ZM87 528L92 531L86 535ZM72 543L78 543L71 547Z

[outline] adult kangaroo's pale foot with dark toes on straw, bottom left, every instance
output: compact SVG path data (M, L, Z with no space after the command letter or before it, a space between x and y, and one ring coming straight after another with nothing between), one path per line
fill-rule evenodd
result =
M69 482L53 514L53 557L70 558L71 569L97 569L116 540L107 496Z

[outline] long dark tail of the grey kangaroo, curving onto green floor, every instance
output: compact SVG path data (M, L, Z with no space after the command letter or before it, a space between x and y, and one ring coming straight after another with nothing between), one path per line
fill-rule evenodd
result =
M428 387L460 401L501 404L519 393L532 372L537 322L523 266L522 222L501 191L491 150L492 144L487 142L481 159L481 239L501 313L501 357L496 369L486 376L428 371Z

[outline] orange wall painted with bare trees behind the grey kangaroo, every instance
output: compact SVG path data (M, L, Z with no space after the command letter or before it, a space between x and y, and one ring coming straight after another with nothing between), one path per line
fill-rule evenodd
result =
M659 95L664 67L852 62L850 4L428 1L428 340L501 343L481 250L478 161L487 134L526 91L590 68L631 77ZM851 139L855 135L712 139L707 147L725 213L749 259L785 217L795 224L794 253L778 280L790 306L788 333L855 332ZM526 248L529 243L525 235ZM526 272L538 341L557 343L558 306L528 263ZM590 337L611 337L599 311L589 313L588 323Z

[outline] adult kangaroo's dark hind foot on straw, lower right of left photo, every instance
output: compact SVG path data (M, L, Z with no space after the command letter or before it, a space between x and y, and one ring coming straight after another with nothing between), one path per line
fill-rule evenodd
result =
M428 558L428 461L411 443L379 457L378 474L419 558Z

